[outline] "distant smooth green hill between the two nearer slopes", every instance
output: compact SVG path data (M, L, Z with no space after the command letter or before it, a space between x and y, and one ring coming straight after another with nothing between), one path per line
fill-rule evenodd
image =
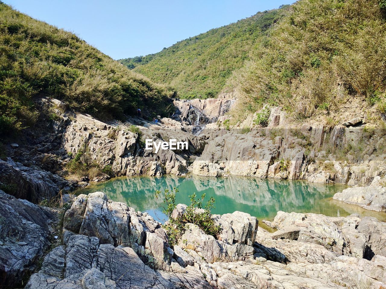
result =
M250 51L287 7L259 12L179 41L159 53L119 61L155 82L173 87L179 97L216 97L232 72L244 65Z

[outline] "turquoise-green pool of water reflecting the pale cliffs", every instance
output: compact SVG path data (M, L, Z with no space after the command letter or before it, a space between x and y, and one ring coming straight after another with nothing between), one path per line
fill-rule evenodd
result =
M344 185L324 185L300 180L273 180L231 176L226 178L189 175L177 177L124 177L79 190L78 193L102 191L109 199L124 202L138 211L162 220L161 199L154 192L178 187L176 202L188 203L189 195L215 197L215 214L243 211L258 219L273 219L278 211L347 216L358 213L386 220L386 213L364 210L359 206L332 200Z

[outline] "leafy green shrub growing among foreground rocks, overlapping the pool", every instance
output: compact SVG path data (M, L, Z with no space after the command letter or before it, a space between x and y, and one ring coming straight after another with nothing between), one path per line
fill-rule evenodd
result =
M169 243L175 245L178 243L181 236L185 233L185 225L187 223L196 224L201 228L206 234L217 237L220 233L220 226L217 226L212 218L210 218L210 211L214 208L215 199L210 197L208 202L205 204L203 212L196 211L196 209L203 209L203 201L205 194L201 198L196 199L196 194L193 194L190 197L190 205L186 207L185 213L176 218L172 217L173 210L176 208L176 193L178 189L173 188L172 191L165 189L164 191L164 209L163 213L168 216L169 220L164 229L168 234ZM156 191L156 198L158 199L161 191Z

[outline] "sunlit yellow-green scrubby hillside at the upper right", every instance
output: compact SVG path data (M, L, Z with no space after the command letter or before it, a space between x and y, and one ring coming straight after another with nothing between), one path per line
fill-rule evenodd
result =
M378 0L291 5L240 70L235 120L265 104L329 125L346 111L386 120L385 12Z

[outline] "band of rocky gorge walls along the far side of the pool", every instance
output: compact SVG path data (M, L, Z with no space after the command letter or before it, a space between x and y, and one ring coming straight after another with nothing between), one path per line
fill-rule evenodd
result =
M103 122L69 110L59 100L42 99L42 109L51 111L54 119L42 121L20 145L8 146L8 158L0 160L0 182L14 196L38 202L77 185L121 175L191 172L350 186L370 185L378 176L378 187L372 187L372 194L356 193L366 201L350 201L347 194L335 199L386 210L382 191L386 184L386 136L381 129L367 128L365 113L332 127L299 126L280 107L264 107L262 111L268 112L265 128L256 124L261 112L230 127L227 113L235 102L234 93L217 99L174 100L174 119L163 118L156 124L133 117L125 122ZM353 116L352 112L347 115ZM154 149L144 150L145 139L186 141L188 149L155 153ZM102 171L108 169L110 176L71 175L66 165L77 154Z

